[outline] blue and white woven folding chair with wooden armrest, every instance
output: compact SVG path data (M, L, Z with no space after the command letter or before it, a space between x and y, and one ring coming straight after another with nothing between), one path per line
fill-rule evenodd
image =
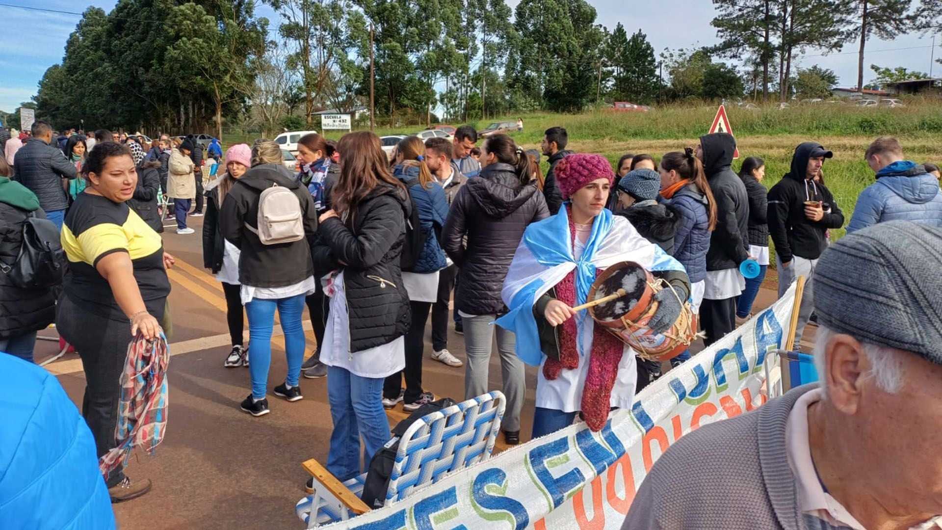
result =
M495 390L416 420L399 440L384 505L490 458L506 406L504 394ZM314 476L314 493L295 506L308 528L347 521L370 510L360 500L365 473L341 483L313 458L301 465Z

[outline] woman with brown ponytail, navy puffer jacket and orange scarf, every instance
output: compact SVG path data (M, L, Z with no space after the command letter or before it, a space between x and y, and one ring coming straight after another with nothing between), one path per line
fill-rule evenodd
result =
M707 277L707 251L710 232L716 226L716 201L709 189L703 163L688 147L660 159L660 196L680 212L681 224L674 235L674 258L690 276L693 313L700 311ZM690 358L690 351L671 359L677 366Z

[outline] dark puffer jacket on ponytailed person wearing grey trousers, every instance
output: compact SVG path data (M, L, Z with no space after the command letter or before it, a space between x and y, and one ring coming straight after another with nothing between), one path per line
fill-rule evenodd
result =
M445 252L461 268L455 293L460 311L495 315L507 310L500 290L513 254L527 225L546 217L546 201L536 182L521 184L510 164L491 164L468 179L442 232Z

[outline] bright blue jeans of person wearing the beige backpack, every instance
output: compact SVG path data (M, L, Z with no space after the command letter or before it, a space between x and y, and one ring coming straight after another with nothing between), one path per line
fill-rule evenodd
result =
M179 199L177 199L179 200ZM252 299L245 305L249 317L249 373L252 375L252 397L262 399L268 391L268 367L271 366L271 329L275 325L275 308L282 321L284 331L284 353L288 360L288 374L284 382L298 386L300 363L304 357L304 328L301 312L304 310L304 295L299 294L279 300Z

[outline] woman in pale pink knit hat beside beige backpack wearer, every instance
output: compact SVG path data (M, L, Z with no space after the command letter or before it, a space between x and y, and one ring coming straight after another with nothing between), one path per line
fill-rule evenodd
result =
M233 349L226 356L223 366L235 368L249 366L249 346L242 339L242 301L239 296L241 286L238 281L239 250L234 244L222 238L219 231L219 209L226 194L233 184L252 166L252 148L245 143L236 143L226 151L226 171L219 178L206 185L206 217L203 220L203 267L216 274L222 282L222 292L226 296L226 322L229 323L229 335Z

